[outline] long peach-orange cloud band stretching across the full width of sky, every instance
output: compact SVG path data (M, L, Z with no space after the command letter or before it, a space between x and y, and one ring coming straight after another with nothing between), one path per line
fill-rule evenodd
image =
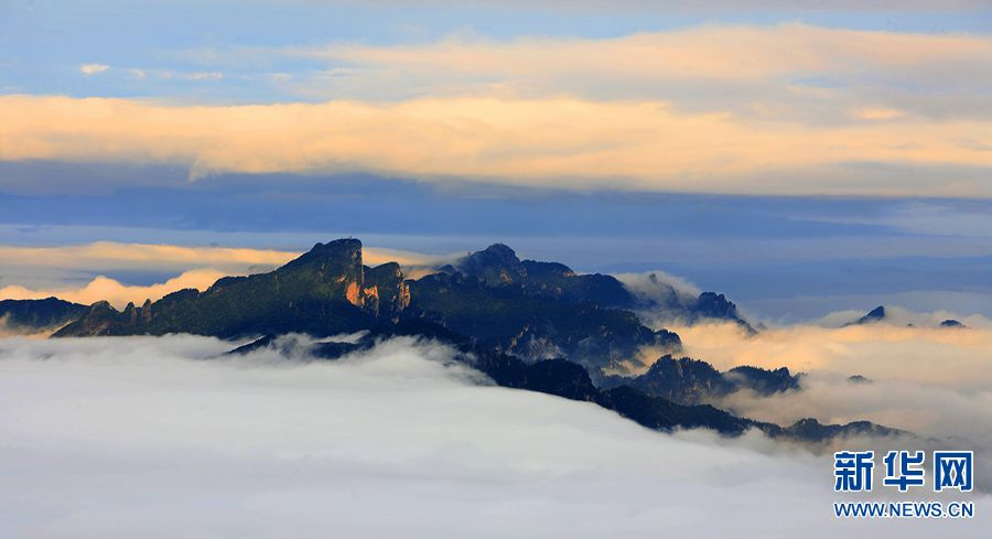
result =
M992 196L989 152L956 142L988 139L979 120L815 128L570 98L190 107L4 96L0 115L0 159L186 163L192 179L362 170L579 190ZM823 181L851 161L929 166L955 181L872 168Z

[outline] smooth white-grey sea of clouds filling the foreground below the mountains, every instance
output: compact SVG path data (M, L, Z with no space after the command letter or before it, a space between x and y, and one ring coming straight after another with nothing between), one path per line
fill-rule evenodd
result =
M988 529L980 495L967 522L842 522L830 516L827 456L759 436L662 434L590 403L479 386L430 344L393 341L336 363L270 352L203 360L229 346L188 336L0 341L0 532L775 538Z

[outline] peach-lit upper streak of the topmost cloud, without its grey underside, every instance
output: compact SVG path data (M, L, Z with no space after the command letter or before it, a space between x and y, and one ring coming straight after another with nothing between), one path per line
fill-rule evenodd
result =
M455 37L423 45L295 47L290 54L440 77L455 74L543 83L562 76L612 79L766 79L794 73L892 72L949 62L989 65L992 39L844 30L801 23L703 25L613 39ZM974 76L975 74L971 74Z

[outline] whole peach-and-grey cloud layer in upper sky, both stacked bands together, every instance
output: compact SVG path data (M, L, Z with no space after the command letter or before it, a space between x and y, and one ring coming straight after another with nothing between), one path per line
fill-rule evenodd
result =
M578 190L992 196L992 39L981 34L704 25L181 55L218 69L325 68L272 83L308 103L8 95L0 160L182 164L194 180L365 171Z

